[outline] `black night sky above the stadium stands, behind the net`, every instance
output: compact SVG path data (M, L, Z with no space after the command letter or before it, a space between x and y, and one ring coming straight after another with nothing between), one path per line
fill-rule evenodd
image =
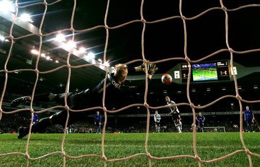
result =
M21 0L20 2L25 1ZM38 2L41 0L36 0ZM54 0L47 0L52 2ZM241 5L257 3L257 0L223 0L228 9ZM31 3L31 2L30 2ZM70 28L70 18L73 9L73 0L62 0L55 5L48 6L43 28L46 32L53 32ZM108 26L116 26L127 21L140 19L140 0L123 1L111 0L108 11ZM105 0L77 0L74 19L76 30L104 25L104 15L107 1ZM211 7L221 7L219 0L183 0L182 13L185 17L193 17ZM229 15L229 44L237 51L259 48L260 39L260 7L250 7ZM36 5L19 9L19 12L29 12L34 24L39 26L43 5ZM145 0L143 15L146 21L178 16L178 0ZM227 48L225 43L225 14L222 10L213 10L196 20L186 21L187 26L187 53L191 60L205 57L217 50ZM109 30L107 60L112 65L126 63L141 57L141 32L142 22L128 24L118 29ZM144 34L145 58L157 61L172 57L184 57L184 33L181 19L172 19L154 24L146 24ZM70 34L71 32L66 32ZM105 29L99 28L92 31L78 33L75 36L78 46L84 46L102 58L105 44ZM234 61L245 66L257 66L254 59L259 53L245 55L234 54ZM247 57L245 59L244 57ZM248 59L249 58L249 59ZM230 59L228 52L222 52L211 60ZM256 62L256 61L255 61ZM180 61L160 63L159 72L165 72Z

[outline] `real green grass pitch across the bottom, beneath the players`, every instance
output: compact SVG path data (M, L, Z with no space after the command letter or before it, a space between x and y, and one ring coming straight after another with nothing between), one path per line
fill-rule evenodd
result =
M63 134L32 134L29 155L32 158L54 151L61 151ZM102 155L102 134L67 134L64 150L67 155ZM123 158L137 153L145 153L145 133L105 134L105 155L108 159ZM197 151L201 160L212 160L243 149L239 133L197 133ZM243 133L244 143L254 153L260 154L260 133ZM17 134L0 134L0 167L26 167L26 158L22 155L2 156L8 152L25 152L26 138L18 140ZM152 156L165 157L192 155L193 133L149 133L148 151ZM260 167L260 158L251 156L253 166ZM198 167L192 158L171 160L152 160L153 167ZM60 153L29 162L30 167L62 167ZM66 167L103 167L100 158L87 157L72 160L66 158ZM108 162L107 167L148 167L145 155L120 162ZM201 164L201 167L249 167L247 154L242 152L223 161Z

